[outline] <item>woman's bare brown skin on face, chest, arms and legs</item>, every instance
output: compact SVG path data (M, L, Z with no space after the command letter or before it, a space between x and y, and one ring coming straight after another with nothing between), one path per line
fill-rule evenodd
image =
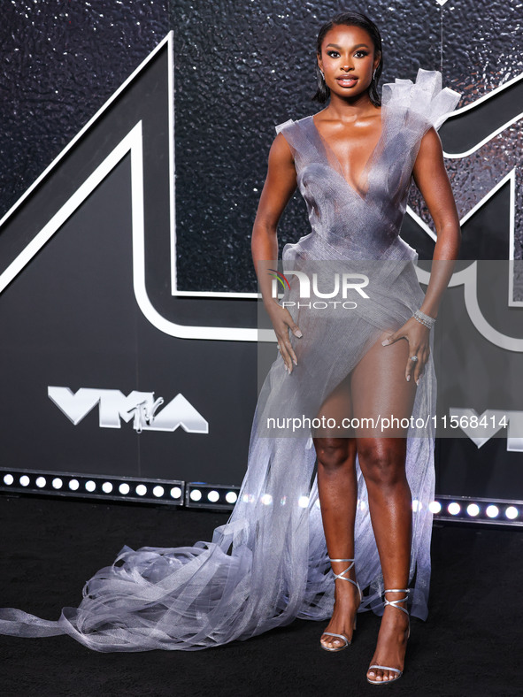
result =
M365 44L362 46L361 44ZM381 134L380 108L373 106L368 88L379 64L369 34L360 27L333 27L325 36L318 65L331 90L330 103L314 118L319 134L343 164L350 186L362 192L361 173ZM343 74L358 76L354 87L342 87L336 80ZM437 317L442 294L458 258L461 241L458 211L445 170L442 143L434 128L424 135L412 176L427 203L437 233L434 262L425 299L420 310ZM273 322L281 356L289 372L296 364L288 332L300 336L299 327L288 310L273 300L271 277L266 268L278 257L277 226L290 197L296 190L296 169L288 143L282 134L273 141L269 164L252 234L252 257L258 274L265 308ZM388 339L388 344L382 340ZM403 341L401 341L403 340ZM329 395L321 414L327 417L372 416L377 413L409 417L429 356L429 330L409 318L396 332L386 332L358 363L342 384ZM418 356L418 362L410 356ZM332 434L334 436L334 433ZM314 438L318 456L318 486L328 554L335 558L354 557L354 521L358 460L369 497L373 532L380 553L385 588L406 588L411 555L411 491L405 476L406 433L368 430L353 437L334 438L328 433ZM341 573L349 563L333 563ZM350 578L356 579L355 570ZM404 594L387 594L388 601ZM352 584L336 579L335 609L326 631L344 634L349 640L358 609L358 591ZM400 605L406 608L405 603ZM372 663L404 669L408 618L387 606L381 619ZM327 646L342 644L334 637L322 637ZM373 680L395 678L390 670L367 672Z

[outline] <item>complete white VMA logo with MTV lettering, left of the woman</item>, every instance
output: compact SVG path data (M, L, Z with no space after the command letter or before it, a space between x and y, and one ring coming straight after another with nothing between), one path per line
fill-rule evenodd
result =
M81 387L73 393L69 387L48 387L47 394L73 425L80 424L98 405L100 428L121 428L121 419L126 423L132 419L137 433L175 431L179 426L187 433L209 433L208 422L183 394L177 394L161 411L158 407L164 399L155 400L154 392L133 390L126 396L120 390Z

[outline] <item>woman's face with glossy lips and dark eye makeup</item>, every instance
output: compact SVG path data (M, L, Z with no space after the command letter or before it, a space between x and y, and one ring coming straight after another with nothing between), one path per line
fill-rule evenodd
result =
M365 92L379 64L380 54L374 56L370 34L361 27L346 25L337 25L327 32L318 56L327 87L339 96Z

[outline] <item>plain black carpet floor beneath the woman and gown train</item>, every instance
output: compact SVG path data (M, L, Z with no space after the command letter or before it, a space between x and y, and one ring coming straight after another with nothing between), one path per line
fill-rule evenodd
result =
M0 605L58 619L120 548L211 540L228 514L130 504L0 496ZM519 530L437 525L427 622L411 620L404 676L371 686L365 670L380 619L358 616L354 643L319 647L327 622L297 620L204 651L100 654L68 636L0 636L0 693L12 695L521 695L523 536Z

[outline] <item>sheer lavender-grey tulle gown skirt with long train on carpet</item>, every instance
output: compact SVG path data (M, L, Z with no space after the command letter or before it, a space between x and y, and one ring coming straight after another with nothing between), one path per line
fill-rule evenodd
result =
M266 417L302 410L313 414L383 330L401 326L419 307L423 294L410 261L395 262L382 272L382 278L388 292L381 302L373 303L372 311L366 307L344 321L318 313L296 315L304 333L303 339L293 340L298 368L289 376L278 357L269 371L258 400L249 465L238 501L227 524L213 532L212 541L186 548L124 546L111 566L88 580L78 608L64 608L57 621L19 609L1 609L0 632L27 637L64 633L104 652L198 650L246 640L296 617L330 617L334 579L327 559L311 434L304 430L273 436L266 429ZM434 411L431 354L412 415L427 417ZM435 486L430 430L410 430L405 465L414 502L411 614L425 619L432 528L428 506ZM358 458L356 466L356 572L366 589L360 611L372 609L381 615L383 579Z

